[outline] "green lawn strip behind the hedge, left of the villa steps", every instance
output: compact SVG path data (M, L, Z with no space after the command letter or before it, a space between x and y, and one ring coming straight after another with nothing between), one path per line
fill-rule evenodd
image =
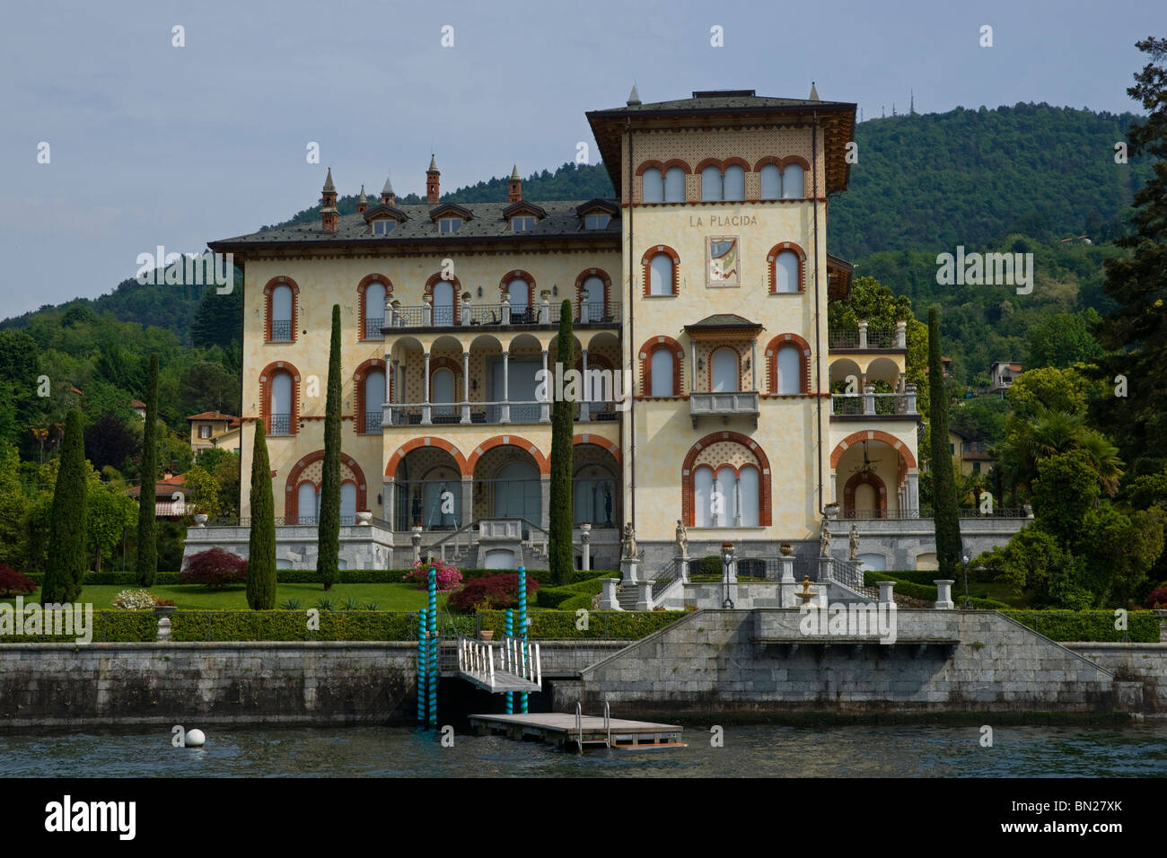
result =
M95 584L82 588L77 601L92 602L95 608L113 607L110 602L123 590L139 590L120 584ZM148 587L159 599L169 599L175 607L191 611L246 611L247 588L244 585L228 590L205 590L189 584L162 584ZM301 608L315 607L316 601L326 595L319 584L280 584L275 590L275 607L280 608L287 599L299 599ZM328 591L334 608L344 607L344 601L352 597L362 609L369 602L377 602L380 611L417 611L426 607L426 591L418 590L414 584L334 584ZM12 602L14 599L0 599ZM25 602L40 602L40 591L25 597ZM446 594L438 594L438 606L446 604Z

